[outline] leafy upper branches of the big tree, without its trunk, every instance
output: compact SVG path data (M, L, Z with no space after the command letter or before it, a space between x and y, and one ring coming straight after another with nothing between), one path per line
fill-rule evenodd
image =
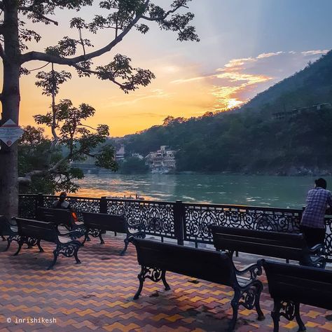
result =
M41 60L53 64L67 64L76 69L78 76L96 76L101 80L109 80L119 86L124 92L136 90L139 86L148 85L154 74L148 69L132 67L131 58L116 54L113 61L108 64L95 66L92 60L115 48L120 41L130 32L137 29L141 34L149 31L148 23L156 22L160 29L177 32L179 41L199 41L195 28L190 25L193 13L178 13L181 8L188 8L191 0L174 0L170 2L168 10L153 4L150 0L62 0L62 1L32 1L22 0L15 4L14 9L20 15L18 39L20 41L20 53L29 49L29 42L41 40L41 34L32 29L27 29L26 20L33 23L41 22L45 25L58 25L51 19L58 9L74 9L80 11L84 6L92 6L99 3L100 14L94 15L89 22L80 17L71 18L69 27L78 31L78 39L64 36L57 45L49 46L44 53L28 52L21 55L21 63L31 60ZM0 9L10 12L7 2L0 1ZM11 5L9 5L11 6ZM5 18L6 19L6 18ZM139 21L144 21L140 23ZM3 34L7 26L0 21ZM36 26L35 26L36 27ZM84 38L84 34L97 34L101 30L110 29L114 32L109 43L98 50L90 51L93 44L90 39ZM5 39L2 39L6 43ZM22 67L22 73L27 71Z

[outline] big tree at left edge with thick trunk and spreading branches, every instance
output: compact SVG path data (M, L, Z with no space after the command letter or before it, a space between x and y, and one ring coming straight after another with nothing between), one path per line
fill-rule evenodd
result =
M20 75L27 74L25 64L32 60L68 65L76 69L78 76L96 76L118 85L124 92L148 85L155 76L148 69L134 68L131 59L115 55L113 61L104 66L94 67L92 60L114 50L132 30L142 34L148 32L148 22L156 22L160 29L178 33L179 41L198 41L195 28L190 24L192 13L179 13L188 8L191 0L173 0L170 9L156 6L151 0L102 0L99 7L104 15L95 15L91 22L72 18L70 27L77 29L79 38L65 36L56 46L45 52L27 51L28 41L40 41L41 34L28 29L26 22L57 25L52 15L58 10L92 6L93 0L0 0L0 57L4 66L1 123L12 119L18 123L20 109ZM141 22L144 23L141 23ZM83 38L85 31L97 34L101 29L113 31L109 43L91 51L92 43ZM18 211L18 144L10 148L1 143L0 150L0 214L13 216Z

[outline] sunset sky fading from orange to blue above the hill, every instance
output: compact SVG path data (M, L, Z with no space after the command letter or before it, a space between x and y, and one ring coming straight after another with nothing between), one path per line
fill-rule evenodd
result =
M171 2L155 1L165 8ZM156 78L150 85L124 94L111 82L74 74L62 85L57 101L90 104L96 114L88 124L107 124L111 136L119 137L160 125L167 116L190 118L239 106L332 48L331 0L193 0L189 10L195 14L199 43L181 43L177 34L151 24L148 34L130 32L116 49L95 61L106 64L117 53L127 55L134 67L153 71ZM62 11L56 15L58 27L34 26L43 39L31 50L43 50L62 36L77 38L68 28L69 19L96 13L97 6L81 13ZM110 36L107 31L85 38L97 49ZM29 62L26 67L42 65ZM68 70L58 65L55 69ZM23 76L20 83L20 125L32 125L32 116L46 113L50 105L34 84L35 74Z

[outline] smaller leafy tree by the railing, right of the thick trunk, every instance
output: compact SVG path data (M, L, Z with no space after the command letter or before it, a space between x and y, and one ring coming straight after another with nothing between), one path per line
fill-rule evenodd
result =
M43 95L52 97L52 104L50 112L46 115L36 115L34 119L39 125L50 127L53 139L45 139L43 132L38 128L30 126L25 128L18 155L21 166L19 173L22 175L18 178L19 183L30 187L25 190L36 192L36 189L43 188L41 184L44 184L44 188L48 188L48 191L43 190L43 192L54 193L63 190L76 192L78 186L73 180L82 179L84 174L80 169L71 167L71 162L84 160L88 156L95 159L97 166L118 170L113 146L102 146L109 135L108 125L92 128L84 123L95 114L95 109L88 104L81 104L77 109L69 99L55 104L60 85L71 78L71 74L66 71L55 71L52 64L50 72L40 71L36 77L39 78L36 85L43 88ZM47 144L44 144L45 142ZM62 148L61 154L59 154L60 148ZM64 148L66 151L63 151ZM24 170L25 173L22 174ZM22 186L20 189L22 190Z

